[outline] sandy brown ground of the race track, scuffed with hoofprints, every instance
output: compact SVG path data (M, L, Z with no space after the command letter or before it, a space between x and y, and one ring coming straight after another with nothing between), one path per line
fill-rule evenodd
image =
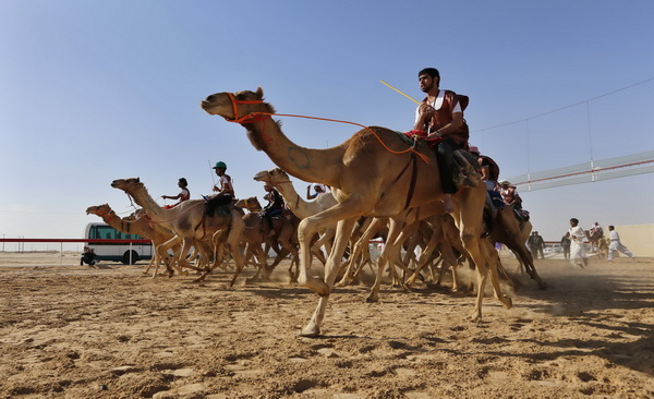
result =
M537 261L549 289L487 297L482 323L446 289L337 289L314 339L316 295L283 268L228 289L77 254L0 265L2 398L654 397L654 259Z

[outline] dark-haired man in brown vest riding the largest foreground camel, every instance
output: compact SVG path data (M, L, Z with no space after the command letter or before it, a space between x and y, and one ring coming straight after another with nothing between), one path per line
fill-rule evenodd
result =
M470 136L468 124L463 119L463 109L468 97L458 96L455 92L440 89L440 73L435 68L425 68L417 73L420 89L427 96L415 110L414 131L426 132L426 140L436 148L440 182L445 194L443 202L446 211L452 211L451 195L457 192L453 178L453 152L464 148ZM465 99L463 101L463 98ZM460 101L460 99L462 101Z

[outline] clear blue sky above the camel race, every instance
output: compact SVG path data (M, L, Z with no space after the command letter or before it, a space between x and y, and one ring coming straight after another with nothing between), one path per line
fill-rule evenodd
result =
M379 80L422 98L417 71L435 66L441 88L470 96L471 143L504 178L652 150L652 81L530 119L654 77L652 15L650 0L3 0L0 234L81 238L99 221L88 206L131 210L109 185L120 178L158 197L184 177L199 198L218 160L238 196L261 200L252 177L275 165L199 108L257 86L280 113L408 131L414 104ZM324 148L358 129L284 118L283 130ZM654 173L521 195L545 240L570 217L654 222Z

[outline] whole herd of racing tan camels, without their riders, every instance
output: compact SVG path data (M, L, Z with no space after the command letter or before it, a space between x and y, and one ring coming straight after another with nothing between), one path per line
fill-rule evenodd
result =
M198 279L204 279L233 261L232 286L246 264L256 265L257 276L268 278L279 262L290 255L291 268L296 267L296 271L289 269L290 277L318 294L317 307L300 332L307 337L320 334L334 286L355 282L366 265L376 276L367 298L374 302L379 300L386 269L392 285L405 289L417 278L440 282L443 273L451 270L453 288L458 289L457 268L468 264L476 274L472 317L477 321L482 318L488 277L495 298L507 309L512 305L501 292L500 279L506 278L509 283L511 279L501 267L495 242L513 251L532 279L541 288L546 287L524 245L531 225L519 221L509 207L491 217L484 210L485 185L474 184L474 170L468 179L473 183L460 188L453 196L453 211L446 213L435 154L421 143L408 145L395 131L368 126L338 146L313 149L298 146L284 135L261 88L214 94L202 101L202 108L245 128L253 146L279 167L262 171L254 179L274 186L291 215L279 218L275 235L270 235L265 231L267 223L255 197L216 209L209 209L204 200L164 209L138 179L116 180L111 186L124 191L144 215L124 220L108 205L89 207L87 213L118 230L150 239L155 277L159 264L164 264L169 276L175 270L195 269ZM331 191L304 201L290 176L325 184ZM368 252L368 242L375 237L383 237L386 243L376 264ZM195 250L193 256L189 256L191 246ZM268 247L278 253L271 265L266 261ZM415 247L422 250L419 257L414 255ZM324 265L319 270L312 270L314 257Z

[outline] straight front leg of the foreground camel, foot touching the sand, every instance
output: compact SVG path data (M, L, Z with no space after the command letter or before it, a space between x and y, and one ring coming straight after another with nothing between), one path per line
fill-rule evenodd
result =
M325 294L320 294L315 312L313 313L306 326L302 328L300 335L304 337L316 337L320 334L320 325L325 318L325 310L327 309L329 294L331 293L331 288L334 287L336 276L339 273L340 261L343 252L346 251L348 240L352 233L352 228L354 227L355 222L356 218L349 218L346 220L339 220L337 223L336 241L325 266L325 285L328 291Z

